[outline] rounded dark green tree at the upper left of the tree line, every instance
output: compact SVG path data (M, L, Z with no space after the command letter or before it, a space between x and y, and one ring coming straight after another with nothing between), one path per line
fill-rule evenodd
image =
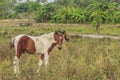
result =
M33 16L38 9L41 8L40 3L38 2L25 2L18 4L14 7L15 12L19 15L19 17L24 17L24 15L29 18Z

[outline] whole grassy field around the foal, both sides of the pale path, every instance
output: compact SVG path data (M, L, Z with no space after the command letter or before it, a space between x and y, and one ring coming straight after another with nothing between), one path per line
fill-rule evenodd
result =
M120 35L118 27L102 25L101 34ZM0 80L15 80L13 73L14 49L9 41L18 34L41 35L54 30L72 33L97 34L91 25L43 24L40 26L0 27ZM50 54L48 71L36 73L39 54L23 54L20 58L19 80L120 80L120 40L71 37L63 49L57 47Z

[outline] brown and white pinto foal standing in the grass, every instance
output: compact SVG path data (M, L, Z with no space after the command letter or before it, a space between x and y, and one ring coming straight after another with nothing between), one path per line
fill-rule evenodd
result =
M58 49L62 49L63 39L69 40L66 36L65 31L55 31L50 34L44 34L38 37L29 36L29 35L18 35L10 41L10 47L15 48L15 57L14 57L14 73L18 77L19 71L19 58L22 53L35 54L40 53L39 67L37 73L40 71L40 66L45 62L45 67L48 64L48 58L51 50L55 45L58 45Z

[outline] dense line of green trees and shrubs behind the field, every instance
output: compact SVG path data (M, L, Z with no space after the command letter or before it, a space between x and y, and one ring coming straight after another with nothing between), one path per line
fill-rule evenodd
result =
M51 23L120 23L119 0L0 0L0 19L33 18Z

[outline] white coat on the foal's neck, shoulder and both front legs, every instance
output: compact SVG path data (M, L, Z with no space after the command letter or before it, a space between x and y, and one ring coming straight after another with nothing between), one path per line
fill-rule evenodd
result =
M54 40L54 32L50 34L44 34L39 37L34 37L34 36L29 36L29 37L32 38L32 40L35 42L35 48L36 48L35 53L44 54L44 58L45 58L44 61L46 67L49 59L49 55L47 51L51 47L52 43L56 43L56 41ZM38 63L39 67L37 69L37 73L39 73L42 63L43 61L40 59Z

